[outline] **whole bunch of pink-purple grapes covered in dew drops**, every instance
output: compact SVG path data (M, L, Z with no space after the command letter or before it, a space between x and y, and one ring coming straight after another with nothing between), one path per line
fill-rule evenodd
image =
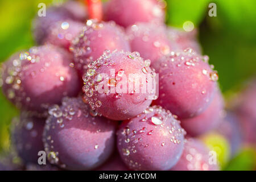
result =
M20 109L11 134L23 169L220 169L198 136L225 136L232 154L241 137L237 117L225 120L218 74L197 31L167 27L162 0L110 0L104 10L87 2L48 7L33 22L38 45L3 64L3 93ZM158 92L142 92L150 80ZM239 109L248 142L255 90Z

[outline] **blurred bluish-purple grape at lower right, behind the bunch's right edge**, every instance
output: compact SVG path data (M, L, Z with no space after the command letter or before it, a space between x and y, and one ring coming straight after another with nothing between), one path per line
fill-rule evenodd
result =
M239 118L236 114L228 111L216 131L228 139L231 147L231 155L234 156L242 146L242 130Z

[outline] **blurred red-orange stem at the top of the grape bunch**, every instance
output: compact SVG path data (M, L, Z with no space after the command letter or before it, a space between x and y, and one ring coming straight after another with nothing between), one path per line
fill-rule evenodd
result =
M102 3L101 0L85 0L88 5L88 14L90 19L102 20Z

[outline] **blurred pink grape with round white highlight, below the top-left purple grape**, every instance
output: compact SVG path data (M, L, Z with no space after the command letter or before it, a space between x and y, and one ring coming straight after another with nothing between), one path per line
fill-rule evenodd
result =
M73 20L56 22L49 28L49 33L43 42L69 49L72 40L82 31L82 27L84 27L83 23Z

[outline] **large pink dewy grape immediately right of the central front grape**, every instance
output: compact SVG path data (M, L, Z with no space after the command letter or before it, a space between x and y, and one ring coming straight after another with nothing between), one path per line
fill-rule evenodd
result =
M159 97L153 101L176 114L179 119L195 117L212 101L218 80L206 57L192 49L172 51L151 67L159 73Z

